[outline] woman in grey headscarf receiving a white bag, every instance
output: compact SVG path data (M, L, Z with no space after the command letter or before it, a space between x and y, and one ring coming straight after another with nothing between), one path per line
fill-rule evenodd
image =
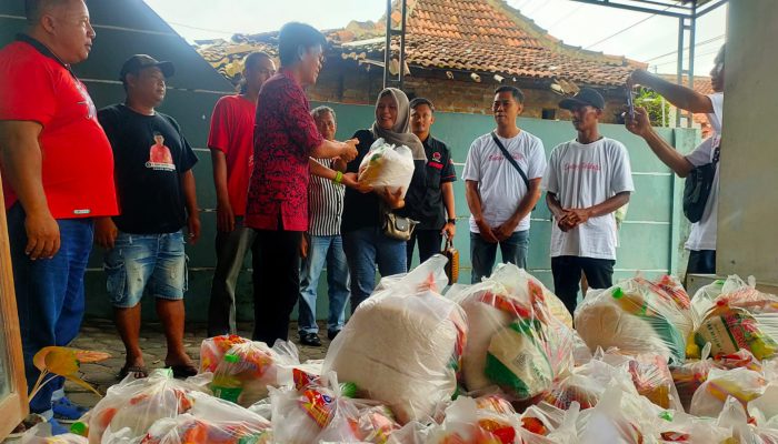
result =
M343 250L351 274L351 310L365 301L376 286L376 266L381 276L405 273L406 241L382 233L381 206L388 206L398 215L413 218L413 209L421 206L426 192L425 164L427 157L419 138L410 132L410 107L408 97L396 89L387 88L376 102L376 121L369 130L359 130L353 139L359 140L358 155L349 162L347 172L358 172L359 164L372 143L382 138L387 143L406 145L413 154L413 178L405 199L402 190L397 193L360 193L346 190L341 235ZM418 220L418 218L417 218Z

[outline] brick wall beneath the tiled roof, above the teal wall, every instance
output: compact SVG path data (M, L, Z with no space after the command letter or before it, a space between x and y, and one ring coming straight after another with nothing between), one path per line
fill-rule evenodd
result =
M373 104L383 82L381 69L370 71L363 69L330 69L323 70L313 88L308 90L309 99L321 102L339 102L348 104ZM495 82L475 82L472 80L450 80L427 77L408 75L405 80L405 91L410 97L426 97L435 103L439 111L462 112L469 114L490 114ZM523 87L523 117L542 119L543 110L549 110L558 120L569 120L569 113L560 110L557 103L559 94L548 89ZM616 110L622 107L620 100L607 99L602 122L612 123Z

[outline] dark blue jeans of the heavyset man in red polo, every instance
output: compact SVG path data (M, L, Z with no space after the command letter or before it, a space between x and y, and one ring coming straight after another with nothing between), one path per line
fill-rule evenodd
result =
M24 375L29 390L40 374L32 364L36 353L50 345L68 345L81 327L84 309L83 273L92 250L94 225L91 218L57 220L60 250L51 259L31 261L24 254L24 210L16 203L7 215ZM51 394L63 384L62 377L46 384L30 401L30 410L34 413L49 412Z

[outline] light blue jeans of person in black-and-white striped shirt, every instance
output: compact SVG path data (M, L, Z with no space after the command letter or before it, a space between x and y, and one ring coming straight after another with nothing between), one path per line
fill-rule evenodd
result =
M346 301L349 299L349 268L343 253L343 241L339 235L312 235L308 243L308 256L302 260L300 268L300 333L319 333L319 326L316 324L316 299L325 262L330 305L327 331L337 332L343 329Z

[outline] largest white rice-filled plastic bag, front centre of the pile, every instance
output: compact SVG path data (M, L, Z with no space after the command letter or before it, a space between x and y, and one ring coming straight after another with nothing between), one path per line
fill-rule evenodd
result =
M388 405L401 424L433 414L457 390L467 323L442 297L446 258L381 280L351 315L325 359L323 372L352 382L359 397Z

